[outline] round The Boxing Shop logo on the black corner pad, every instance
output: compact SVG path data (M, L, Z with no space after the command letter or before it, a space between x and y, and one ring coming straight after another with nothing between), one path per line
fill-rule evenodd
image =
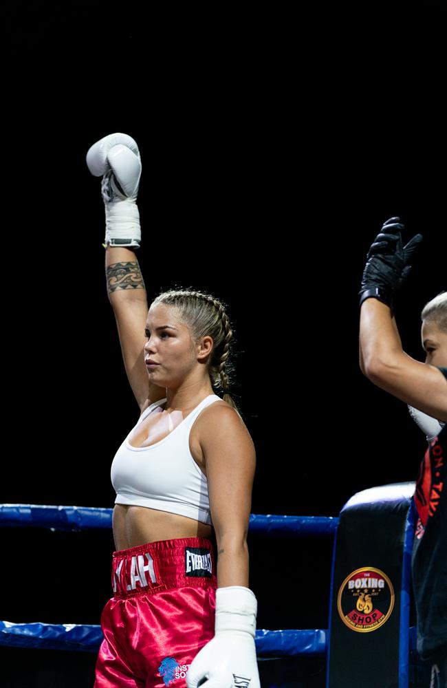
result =
M353 631L376 631L389 619L394 606L393 585L378 568L362 567L349 574L338 591L338 614Z

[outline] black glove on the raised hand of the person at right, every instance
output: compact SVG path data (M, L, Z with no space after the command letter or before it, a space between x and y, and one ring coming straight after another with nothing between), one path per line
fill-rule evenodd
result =
M403 229L400 217L390 217L371 244L359 292L360 305L373 297L392 308L393 295L408 277L413 253L422 241L422 234L417 234L402 246Z

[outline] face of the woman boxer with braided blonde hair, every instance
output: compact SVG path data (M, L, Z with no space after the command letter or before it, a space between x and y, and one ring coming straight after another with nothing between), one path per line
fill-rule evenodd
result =
M197 365L197 358L190 331L179 320L177 309L163 303L151 305L145 334L144 361L151 382L160 387L182 383ZM148 359L158 365L148 367Z

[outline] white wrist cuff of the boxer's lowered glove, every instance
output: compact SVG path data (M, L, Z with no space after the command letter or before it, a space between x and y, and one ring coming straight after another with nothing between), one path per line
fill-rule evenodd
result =
M256 634L258 603L254 592L242 585L216 590L215 634L225 631Z

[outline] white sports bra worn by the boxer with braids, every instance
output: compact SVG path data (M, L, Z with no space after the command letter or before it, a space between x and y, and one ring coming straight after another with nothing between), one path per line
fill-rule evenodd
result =
M145 409L133 429L165 401L160 399ZM150 447L132 447L131 430L111 464L115 504L147 506L212 523L208 480L190 453L189 433L200 411L215 401L221 397L206 396L169 435Z

